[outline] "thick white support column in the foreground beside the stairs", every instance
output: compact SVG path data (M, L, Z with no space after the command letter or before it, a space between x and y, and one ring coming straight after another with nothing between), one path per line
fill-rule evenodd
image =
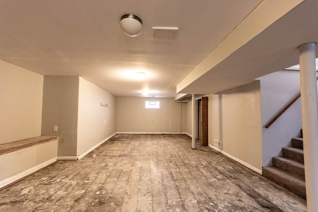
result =
M299 47L307 210L318 212L318 97L316 44Z

